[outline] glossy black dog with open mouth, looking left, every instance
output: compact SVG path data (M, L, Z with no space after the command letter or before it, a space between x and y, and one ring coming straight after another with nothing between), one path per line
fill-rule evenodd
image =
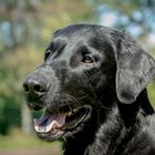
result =
M64 155L155 155L146 85L155 61L125 32L76 24L56 31L44 63L23 83L39 137Z

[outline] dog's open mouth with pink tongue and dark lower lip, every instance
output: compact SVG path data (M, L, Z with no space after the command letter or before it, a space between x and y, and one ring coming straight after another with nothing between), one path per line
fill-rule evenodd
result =
M56 134L71 131L81 124L90 113L89 106L81 106L68 113L52 114L48 110L39 120L34 120L34 130L40 134Z

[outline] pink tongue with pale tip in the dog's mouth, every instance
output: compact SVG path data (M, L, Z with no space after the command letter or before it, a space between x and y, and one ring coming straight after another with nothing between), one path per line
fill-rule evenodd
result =
M48 133L53 130L59 130L65 123L65 115L49 115L43 114L39 120L34 118L34 130L38 133Z

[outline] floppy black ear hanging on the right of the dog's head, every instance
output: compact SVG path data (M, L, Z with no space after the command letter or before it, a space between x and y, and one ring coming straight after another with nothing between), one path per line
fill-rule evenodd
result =
M116 49L117 99L123 104L132 104L155 76L155 61L124 32Z

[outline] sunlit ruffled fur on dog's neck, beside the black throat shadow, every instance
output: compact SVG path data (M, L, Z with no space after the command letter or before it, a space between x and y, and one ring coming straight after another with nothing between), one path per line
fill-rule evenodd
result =
M116 112L107 117L84 155L120 155L124 153L125 147L132 142L132 137L138 132L138 121L126 126Z

